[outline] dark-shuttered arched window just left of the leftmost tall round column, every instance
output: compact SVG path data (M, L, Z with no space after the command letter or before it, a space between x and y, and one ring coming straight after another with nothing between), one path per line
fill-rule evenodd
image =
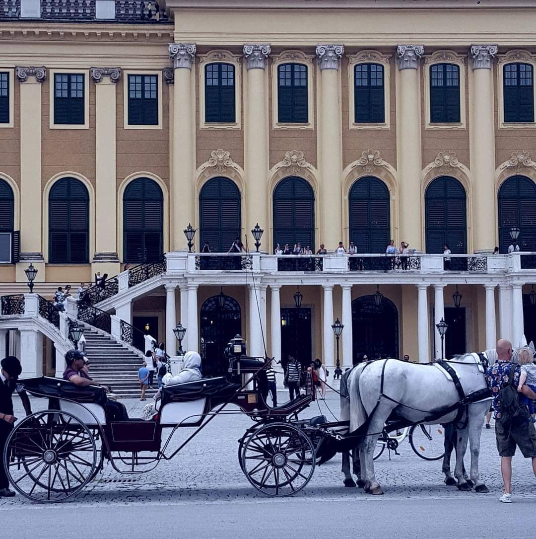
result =
M131 181L123 194L123 261L155 262L164 250L164 197L152 179Z

